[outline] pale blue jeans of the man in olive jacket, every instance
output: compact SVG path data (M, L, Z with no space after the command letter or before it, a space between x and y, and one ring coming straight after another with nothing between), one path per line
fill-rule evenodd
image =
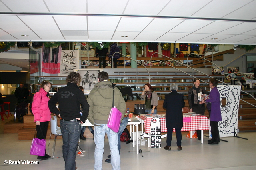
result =
M117 133L113 132L106 124L94 123L94 170L102 170L105 134L108 136L108 143L111 154L112 170L120 170L120 155L117 147Z

